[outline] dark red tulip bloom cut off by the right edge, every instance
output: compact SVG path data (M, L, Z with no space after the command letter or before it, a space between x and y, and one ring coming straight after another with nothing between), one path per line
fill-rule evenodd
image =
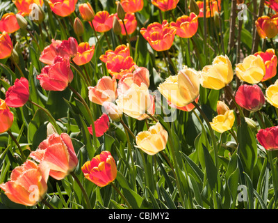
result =
M261 129L256 134L259 143L267 151L275 151L278 149L278 126Z

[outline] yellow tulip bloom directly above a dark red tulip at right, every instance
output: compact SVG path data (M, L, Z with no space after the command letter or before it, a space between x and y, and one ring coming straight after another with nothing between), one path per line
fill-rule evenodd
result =
M265 76L265 63L261 56L250 55L236 65L236 75L243 82L258 84Z

